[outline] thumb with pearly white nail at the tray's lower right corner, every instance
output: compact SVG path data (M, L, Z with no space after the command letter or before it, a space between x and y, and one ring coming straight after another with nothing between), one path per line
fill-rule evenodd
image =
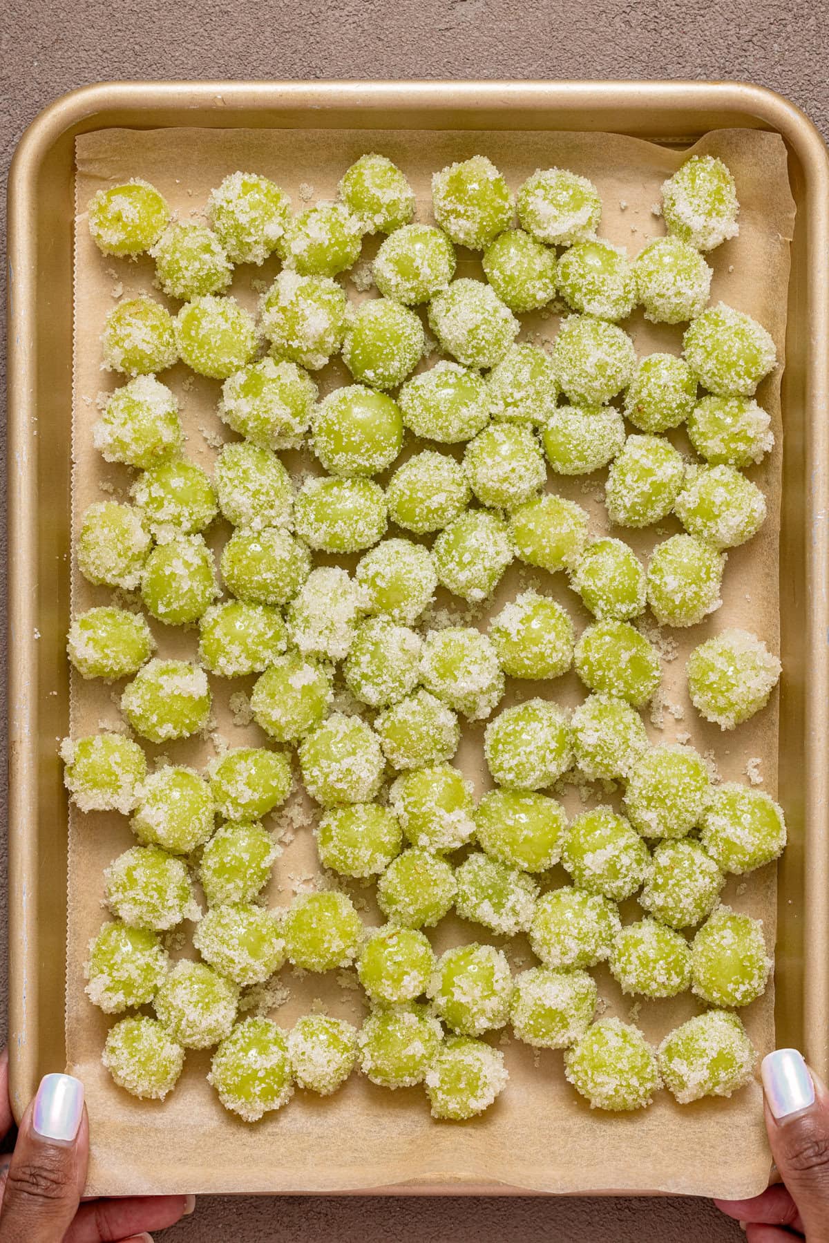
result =
M774 1163L807 1238L829 1238L829 1093L797 1049L769 1053L761 1074Z

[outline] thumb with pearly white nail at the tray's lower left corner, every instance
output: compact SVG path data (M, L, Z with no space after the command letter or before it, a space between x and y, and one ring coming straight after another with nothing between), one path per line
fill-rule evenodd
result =
M0 1243L60 1243L78 1209L88 1152L83 1084L72 1075L46 1075L20 1124Z

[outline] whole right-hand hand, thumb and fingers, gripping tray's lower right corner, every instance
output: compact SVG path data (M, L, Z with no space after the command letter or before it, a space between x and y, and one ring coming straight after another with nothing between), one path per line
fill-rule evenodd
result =
M783 1182L753 1199L715 1203L744 1223L748 1243L829 1243L829 1093L797 1049L769 1053L761 1073L768 1142Z

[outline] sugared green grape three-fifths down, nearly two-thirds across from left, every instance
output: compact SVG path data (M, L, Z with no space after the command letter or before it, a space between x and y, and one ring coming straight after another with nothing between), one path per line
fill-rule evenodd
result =
M542 789L567 772L573 759L570 730L557 704L531 699L491 721L483 752L493 779L507 789Z

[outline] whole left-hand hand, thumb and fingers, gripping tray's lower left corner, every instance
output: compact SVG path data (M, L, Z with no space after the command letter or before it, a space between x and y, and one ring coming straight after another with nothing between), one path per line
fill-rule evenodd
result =
M0 1053L0 1136L14 1129L9 1055ZM193 1196L81 1202L89 1158L83 1084L46 1075L24 1114L14 1152L0 1156L0 1243L152 1243L195 1208Z

